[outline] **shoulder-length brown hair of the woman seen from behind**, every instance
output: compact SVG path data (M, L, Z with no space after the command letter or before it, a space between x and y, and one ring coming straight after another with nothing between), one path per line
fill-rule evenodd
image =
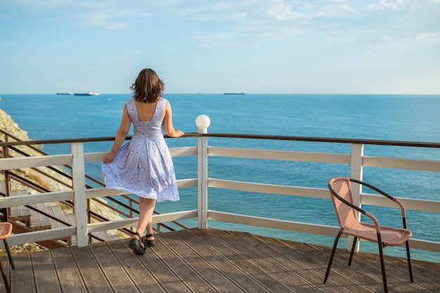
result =
M133 98L142 103L154 103L164 94L164 82L157 76L156 72L150 68L141 70L136 78L136 82L131 84Z

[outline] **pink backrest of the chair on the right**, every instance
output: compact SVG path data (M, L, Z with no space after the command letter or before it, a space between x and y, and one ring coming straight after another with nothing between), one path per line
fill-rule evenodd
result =
M334 193L339 195L342 200L354 204L353 194L351 193L350 178L336 177L328 181L328 188L330 189L330 195L332 196L333 207L335 207L335 213L339 226L341 228L357 226L358 214L356 209L353 209L349 205L345 204Z

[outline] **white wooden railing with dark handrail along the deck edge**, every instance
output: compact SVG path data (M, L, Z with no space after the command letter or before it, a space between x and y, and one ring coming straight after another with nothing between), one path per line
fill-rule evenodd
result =
M363 167L380 167L390 169L408 169L420 171L440 172L439 160L426 159L400 159L391 157L373 157L363 155L365 144L368 145L392 145L392 146L416 146L426 148L440 148L440 143L408 143L392 141L361 141L342 138L304 138L304 137L283 137L283 136L252 136L252 135L234 135L234 134L188 134L187 137L197 137L197 146L170 148L172 157L194 156L198 159L198 178L185 178L178 181L179 190L183 188L198 189L198 209L187 211L176 211L167 214L155 215L154 223L166 223L170 221L179 221L183 219L198 219L198 228L207 228L209 220L225 221L228 223L238 223L244 225L258 226L264 228L274 228L281 230L290 230L300 233L313 233L318 235L335 236L339 227L317 225L313 223L301 223L294 221L284 221L279 219L266 219L259 216L247 216L243 214L231 214L223 211L209 209L208 206L208 188L222 188L229 190L242 190L249 193L268 193L272 195L287 195L300 197L313 197L329 199L330 193L324 188L307 188L302 186L273 185L264 183L252 183L244 181L231 181L221 178L209 178L207 161L208 157L237 157L252 159L275 159L299 162L319 162L326 164L348 164L350 166L350 176L362 180ZM220 138L243 138L243 139L272 139L287 141L314 141L316 143L348 143L351 145L351 153L330 153L330 152L304 152L290 150L263 150L252 148L224 148L218 146L209 146L209 137ZM10 245L20 245L27 242L39 242L43 240L60 239L62 237L77 237L77 245L84 247L88 245L88 234L96 231L120 229L136 226L138 218L122 219L117 221L107 221L101 223L87 223L86 200L96 197L122 195L124 193L117 190L108 190L106 188L85 188L85 164L89 162L102 162L106 152L84 153L84 142L90 142L90 139L63 140L70 141L71 153L65 155L46 155L39 157L13 157L1 158L0 170L47 167L53 165L72 165L72 190L41 193L38 195L16 195L13 197L1 197L0 208L22 206L29 204L60 202L72 200L75 202L75 226L66 228L54 228L51 230L39 230L30 233L12 235ZM93 141L100 141L99 138L93 138ZM39 141L19 142L19 143L0 143L0 147L11 145L36 145ZM51 143L51 141L44 141ZM59 143L59 142L58 142ZM362 193L361 189L355 189L354 195L359 205L371 204L382 207L391 207L387 200L373 194ZM406 209L417 211L440 213L440 202L434 200L418 200L415 198L399 199L405 204ZM333 212L333 211L332 211ZM432 252L440 252L440 242L411 239L410 247L423 249Z

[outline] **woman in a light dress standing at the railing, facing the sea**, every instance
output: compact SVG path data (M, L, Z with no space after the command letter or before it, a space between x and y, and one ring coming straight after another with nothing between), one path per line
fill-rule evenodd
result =
M164 83L154 70L146 68L139 72L130 89L133 98L124 105L115 142L105 155L101 170L106 188L138 195L138 227L129 247L136 254L145 254L145 247L155 245L153 211L156 201L179 200L174 164L163 131L171 137L184 133L174 129L171 105L162 98ZM129 143L122 145L131 123L134 135ZM147 233L143 237L145 229Z

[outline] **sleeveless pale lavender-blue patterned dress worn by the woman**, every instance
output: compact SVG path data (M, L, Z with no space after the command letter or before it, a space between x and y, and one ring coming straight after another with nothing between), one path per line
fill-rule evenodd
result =
M126 105L134 135L119 148L112 162L101 165L105 187L157 202L179 200L174 164L163 135L162 116L167 100L161 98L157 102L149 122L139 121L133 98Z

